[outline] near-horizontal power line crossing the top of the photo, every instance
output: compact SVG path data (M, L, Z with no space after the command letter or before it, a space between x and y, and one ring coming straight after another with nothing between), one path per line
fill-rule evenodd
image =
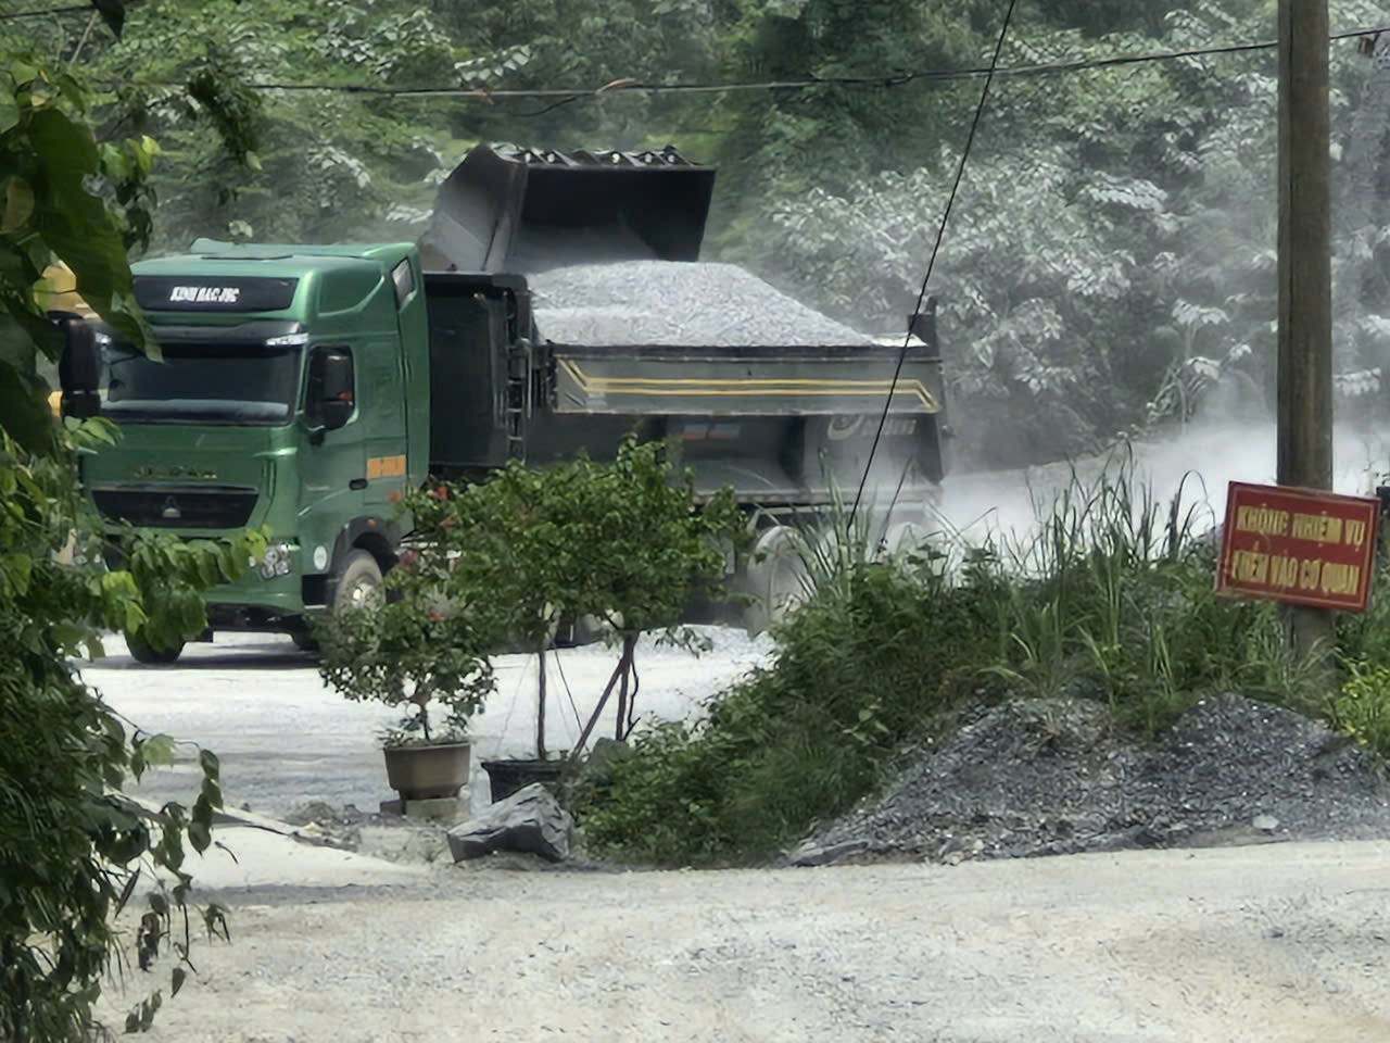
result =
M54 8L58 11L90 10L86 7ZM17 17L17 15L6 15ZM1347 29L1329 36L1330 42L1375 36L1390 32L1390 25ZM845 88L895 88L917 81L929 83L951 82L958 79L980 79L997 76L1051 76L1069 72L1086 72L1093 70L1122 68L1126 65L1152 64L1159 61L1182 61L1184 58L1218 57L1227 54L1248 54L1262 50L1273 50L1279 40L1257 40L1252 43L1225 43L1209 47L1186 47L1182 50L1145 51L1141 54L1113 54L1104 58L1077 58L1074 61L1033 63L1027 65L1001 65L956 70L895 70L891 72L844 75L844 76L808 76L802 79L771 79L742 83L648 83L644 81L617 82L598 89L585 88L523 88L488 90L485 88L470 86L414 86L392 88L375 86L370 83L281 83L254 82L246 86L252 90L285 90L285 92L325 92L343 95L373 95L379 97L461 97L478 102L498 102L509 99L564 99L578 100L581 97L600 97L605 95L645 93L645 95L726 95L748 90L809 90L823 86ZM178 88L179 83L170 81L124 81L132 86L146 88Z

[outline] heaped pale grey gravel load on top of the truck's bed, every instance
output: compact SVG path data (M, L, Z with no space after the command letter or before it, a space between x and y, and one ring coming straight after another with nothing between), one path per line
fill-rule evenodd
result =
M530 277L541 337L575 345L872 345L734 264L620 261Z

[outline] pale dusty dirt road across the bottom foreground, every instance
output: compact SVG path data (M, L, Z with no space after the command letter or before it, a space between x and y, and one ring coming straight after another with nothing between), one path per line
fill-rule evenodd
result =
M152 1037L1390 1039L1383 843L719 873L500 864L228 891L232 944L195 947L200 973Z

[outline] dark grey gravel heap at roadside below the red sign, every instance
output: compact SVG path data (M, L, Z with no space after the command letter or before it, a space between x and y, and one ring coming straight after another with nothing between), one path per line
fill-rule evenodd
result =
M1098 702L1020 700L979 708L909 755L791 862L1387 837L1390 787L1375 759L1290 711L1215 695L1156 743L1133 744Z

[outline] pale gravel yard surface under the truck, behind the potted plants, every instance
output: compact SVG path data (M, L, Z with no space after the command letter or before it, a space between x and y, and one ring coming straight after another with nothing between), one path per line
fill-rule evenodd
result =
M748 669L766 662L771 642L749 640L737 629L699 627L714 644L699 658L644 638L637 665L642 688L639 716L682 719L703 700ZM336 808L353 804L375 811L395 794L386 789L377 733L392 719L377 705L349 702L325 688L314 661L289 638L270 634L220 634L214 644L192 644L170 668L142 666L118 637L107 656L82 665L82 676L120 713L147 731L196 741L222 761L228 807L284 816L309 801ZM550 702L546 744L569 750L603 691L617 652L600 644L548 656ZM531 757L535 750L535 656L496 659L498 691L473 722L474 770L470 795L488 802L484 758ZM569 694L567 694L569 691ZM573 694L573 704L570 701ZM595 736L613 734L610 701ZM174 769L152 772L136 789L157 801L197 794L197 751L181 747Z

